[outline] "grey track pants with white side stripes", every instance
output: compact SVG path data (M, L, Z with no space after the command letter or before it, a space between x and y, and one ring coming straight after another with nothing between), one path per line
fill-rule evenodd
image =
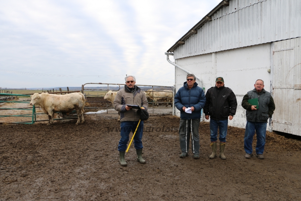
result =
M180 148L182 152L188 153L189 141L191 135L191 150L192 153L198 154L200 150L200 136L199 136L199 119L181 119L180 120Z

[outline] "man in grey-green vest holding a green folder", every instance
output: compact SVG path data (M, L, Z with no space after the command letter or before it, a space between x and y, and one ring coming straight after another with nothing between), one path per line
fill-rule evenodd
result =
M248 103L249 99L258 98L258 109L255 105ZM271 93L264 90L264 82L260 79L256 80L254 89L248 91L244 95L241 106L246 109L247 125L244 136L244 150L246 152L245 158L251 158L253 148L253 136L256 131L257 144L256 156L259 159L264 159L263 151L265 146L265 133L268 118L271 118L274 110L275 103Z

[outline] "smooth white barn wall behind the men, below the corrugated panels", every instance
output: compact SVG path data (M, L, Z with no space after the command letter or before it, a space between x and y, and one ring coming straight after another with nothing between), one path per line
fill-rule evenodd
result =
M254 88L257 79L265 81L265 90L270 91L271 68L270 43L224 50L198 56L189 56L176 59L175 62L202 78L205 93L215 85L216 77L223 77L225 86L233 90L237 98L237 112L230 126L244 128L246 126L245 110L241 107L243 96ZM175 70L176 91L186 81L186 73L180 69ZM176 109L176 115L180 116ZM203 118L203 120L205 120ZM270 130L268 127L267 129Z

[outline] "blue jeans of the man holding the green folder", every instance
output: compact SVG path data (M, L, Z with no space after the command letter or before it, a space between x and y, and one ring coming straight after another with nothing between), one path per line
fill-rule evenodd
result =
M246 132L244 137L244 149L246 154L252 154L253 152L252 142L255 130L257 138L256 154L263 153L265 145L266 124L267 123L264 122L247 121Z

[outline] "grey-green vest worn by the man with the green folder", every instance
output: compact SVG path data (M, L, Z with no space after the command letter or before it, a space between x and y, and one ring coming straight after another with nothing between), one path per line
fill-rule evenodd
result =
M258 94L254 88L252 91L248 91L249 99L258 98L257 110L246 110L247 121L256 122L268 122L268 105L270 104L271 93L262 89Z

